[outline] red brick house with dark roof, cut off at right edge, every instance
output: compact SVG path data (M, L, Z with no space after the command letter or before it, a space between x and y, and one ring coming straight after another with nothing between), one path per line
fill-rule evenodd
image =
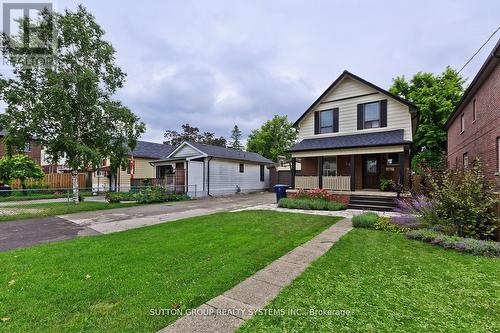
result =
M448 167L462 169L479 157L500 189L500 40L446 123Z

